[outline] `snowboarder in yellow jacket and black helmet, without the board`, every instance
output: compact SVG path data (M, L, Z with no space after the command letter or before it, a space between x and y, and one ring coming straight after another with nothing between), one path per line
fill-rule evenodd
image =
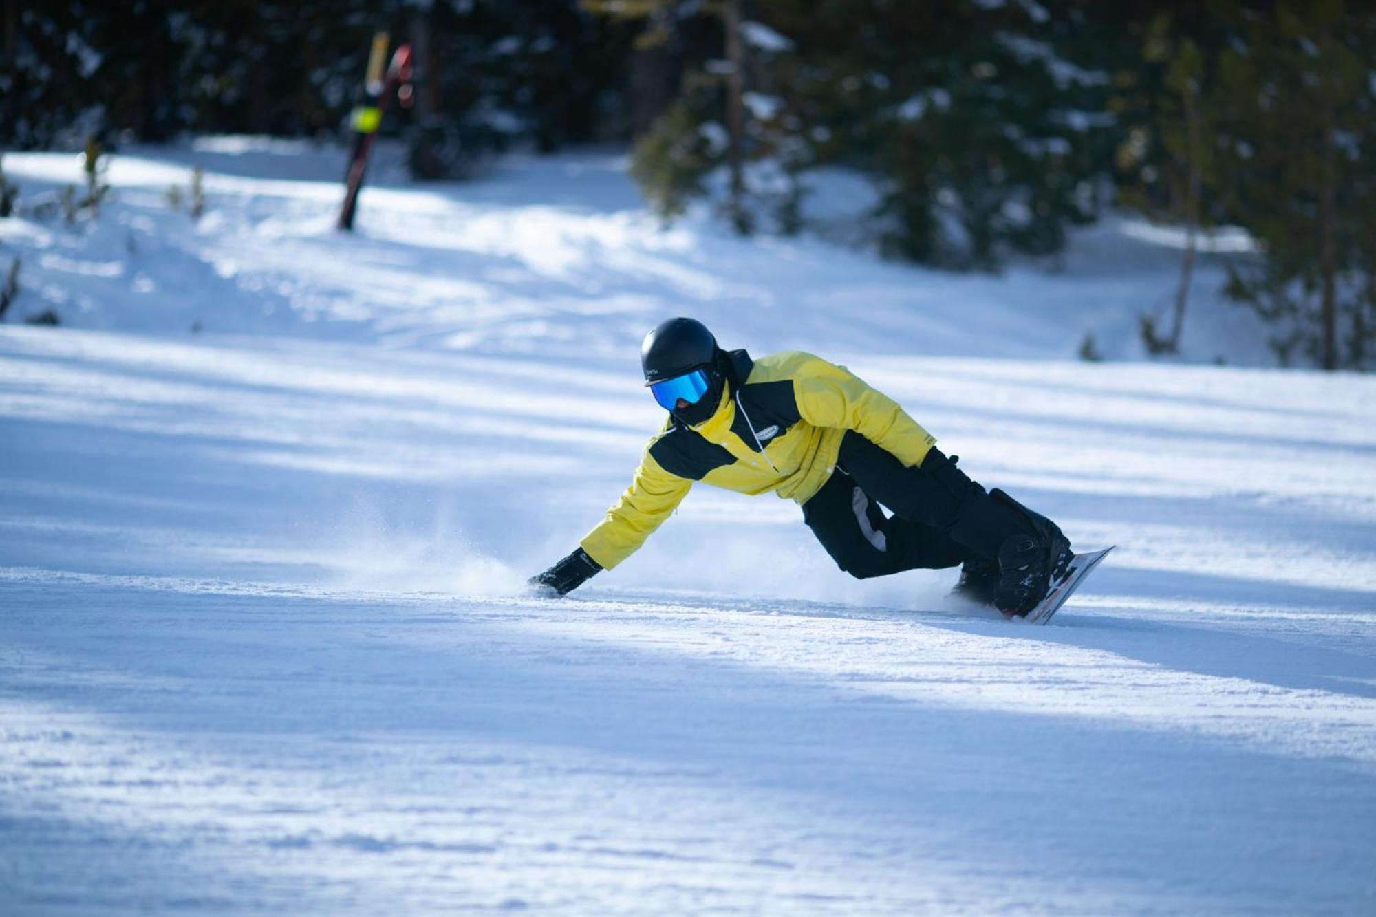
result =
M854 577L959 565L955 592L1009 615L1033 609L1073 558L1050 519L985 492L845 366L801 351L760 359L722 351L691 318L649 332L640 359L669 419L605 519L531 578L546 595L566 595L634 554L695 481L795 500Z

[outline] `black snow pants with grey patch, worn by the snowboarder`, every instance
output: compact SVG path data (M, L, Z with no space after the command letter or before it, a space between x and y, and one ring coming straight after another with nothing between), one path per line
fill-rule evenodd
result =
M936 478L848 431L837 470L802 504L802 520L837 566L864 580L965 562L970 548L936 526L912 520L921 514L908 511L951 501L949 492ZM901 515L888 515L879 504Z

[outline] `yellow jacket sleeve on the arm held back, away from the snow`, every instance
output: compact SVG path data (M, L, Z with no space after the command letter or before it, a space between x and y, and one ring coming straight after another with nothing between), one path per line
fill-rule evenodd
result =
M821 358L805 362L794 376L798 413L815 427L839 427L897 457L921 465L936 436L908 416L896 401L871 388L845 366Z

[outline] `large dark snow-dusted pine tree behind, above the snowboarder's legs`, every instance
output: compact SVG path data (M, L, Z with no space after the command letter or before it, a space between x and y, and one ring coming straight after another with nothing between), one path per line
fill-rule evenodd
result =
M773 0L793 36L788 95L817 160L875 176L885 249L992 268L1060 251L1095 216L1113 117L1113 41L1077 3Z

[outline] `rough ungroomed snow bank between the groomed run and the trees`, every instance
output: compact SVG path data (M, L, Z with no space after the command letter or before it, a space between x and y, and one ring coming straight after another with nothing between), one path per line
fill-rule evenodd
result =
M384 156L383 175L396 156ZM973 277L877 264L868 252L810 238L742 244L709 222L660 231L623 161L597 154L512 158L461 190L373 185L365 194L373 216L358 238L340 238L337 160L327 147L268 146L113 157L106 180L118 201L107 218L81 233L47 227L45 241L17 241L30 292L17 308L51 306L67 325L89 329L200 322L206 332L604 355L633 354L655 317L691 311L731 322L755 350L824 340L845 352L1073 359L1086 333L1108 358L1141 357L1138 315L1164 313L1175 291L1178 251L1132 238L1139 220L1080 233L1061 259L1064 273L1015 264ZM184 189L193 164L206 168L209 197L197 224L165 204L168 186ZM77 156L8 154L6 169L25 196L81 180ZM843 237L827 202L834 178L805 182L817 189L805 216ZM872 198L854 196L864 207ZM66 260L43 264L44 255ZM124 270L113 278L62 270L74 262ZM140 271L146 292L135 295ZM1266 329L1221 300L1223 278L1225 262L1200 264L1185 355L1273 363ZM794 311L806 321L780 318Z

